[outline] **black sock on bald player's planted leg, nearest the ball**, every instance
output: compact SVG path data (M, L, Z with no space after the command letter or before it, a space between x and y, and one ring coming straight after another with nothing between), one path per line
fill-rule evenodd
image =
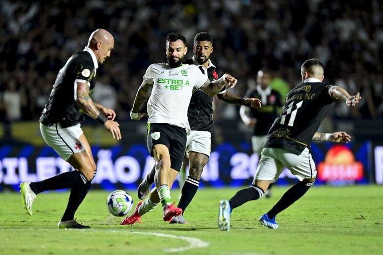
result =
M61 218L62 221L72 220L74 218L74 214L77 208L87 196L90 188L90 181L87 181L86 183L82 182L81 184L78 184L72 188L70 191L68 205L66 206L64 215Z

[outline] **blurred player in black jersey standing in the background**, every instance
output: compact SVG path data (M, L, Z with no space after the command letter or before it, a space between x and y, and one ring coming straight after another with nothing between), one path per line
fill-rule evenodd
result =
M249 108L244 105L240 106L239 115L242 121L250 127L253 127L253 136L251 144L253 152L261 157L262 147L266 142L267 132L275 118L278 117L278 110L283 105L281 94L270 88L271 72L262 68L257 73L257 87L246 93L247 97L261 99L262 108ZM271 186L267 189L265 197L271 196Z

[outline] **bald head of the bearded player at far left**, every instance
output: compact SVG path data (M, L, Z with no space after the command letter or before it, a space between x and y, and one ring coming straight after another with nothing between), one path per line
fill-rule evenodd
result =
M113 50L114 38L108 31L99 28L89 37L88 47L95 52L97 61L102 63L106 57L110 56L110 51Z

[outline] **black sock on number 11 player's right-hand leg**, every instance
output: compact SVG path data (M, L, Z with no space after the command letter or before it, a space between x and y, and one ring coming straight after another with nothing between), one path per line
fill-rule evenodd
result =
M278 213L280 213L288 206L293 204L295 201L300 199L313 184L314 182L297 182L282 196L278 203L275 204L274 207L267 213L269 219L273 219Z

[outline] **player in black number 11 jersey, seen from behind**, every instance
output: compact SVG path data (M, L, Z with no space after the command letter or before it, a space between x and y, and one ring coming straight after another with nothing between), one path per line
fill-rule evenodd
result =
M221 200L219 203L218 226L221 230L230 229L230 213L234 208L261 198L269 183L276 181L287 167L299 181L258 220L264 226L278 228L275 216L301 198L314 184L317 171L309 152L310 141L350 141L345 132L316 132L336 99L345 101L347 106L355 106L360 100L359 93L350 96L342 88L322 83L323 73L323 64L318 59L308 59L302 64L302 83L287 94L284 110L268 132L253 183L237 192L230 201Z

